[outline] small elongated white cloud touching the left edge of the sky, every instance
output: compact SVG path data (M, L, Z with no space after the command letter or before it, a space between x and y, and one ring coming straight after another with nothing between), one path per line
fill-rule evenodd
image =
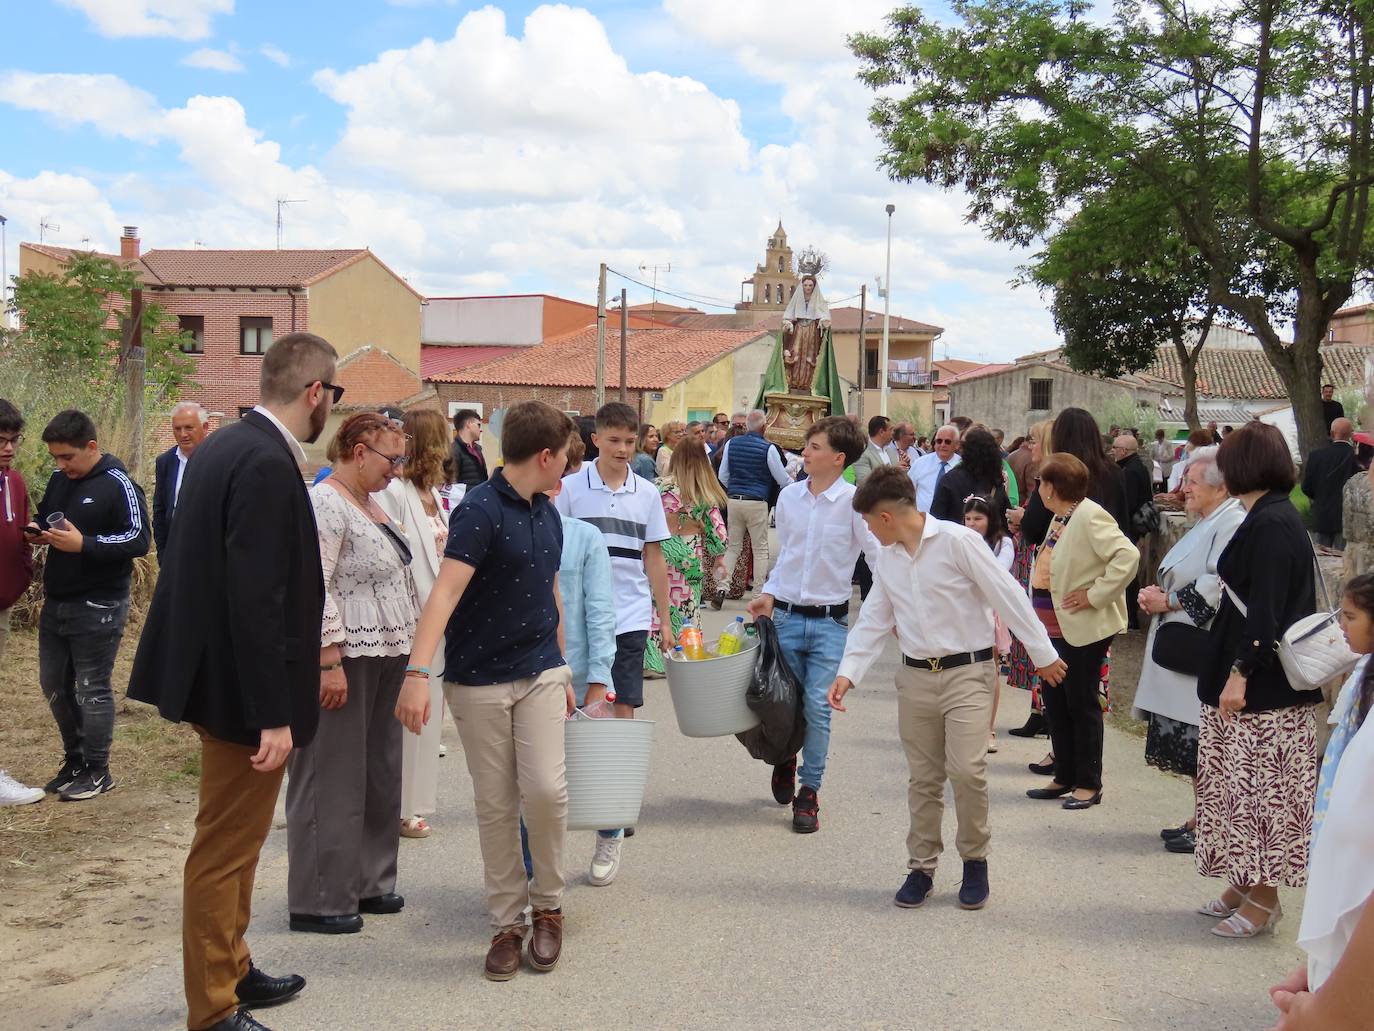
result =
M0 73L0 102L65 126L88 122L106 136L151 142L161 135L157 100L118 76Z

